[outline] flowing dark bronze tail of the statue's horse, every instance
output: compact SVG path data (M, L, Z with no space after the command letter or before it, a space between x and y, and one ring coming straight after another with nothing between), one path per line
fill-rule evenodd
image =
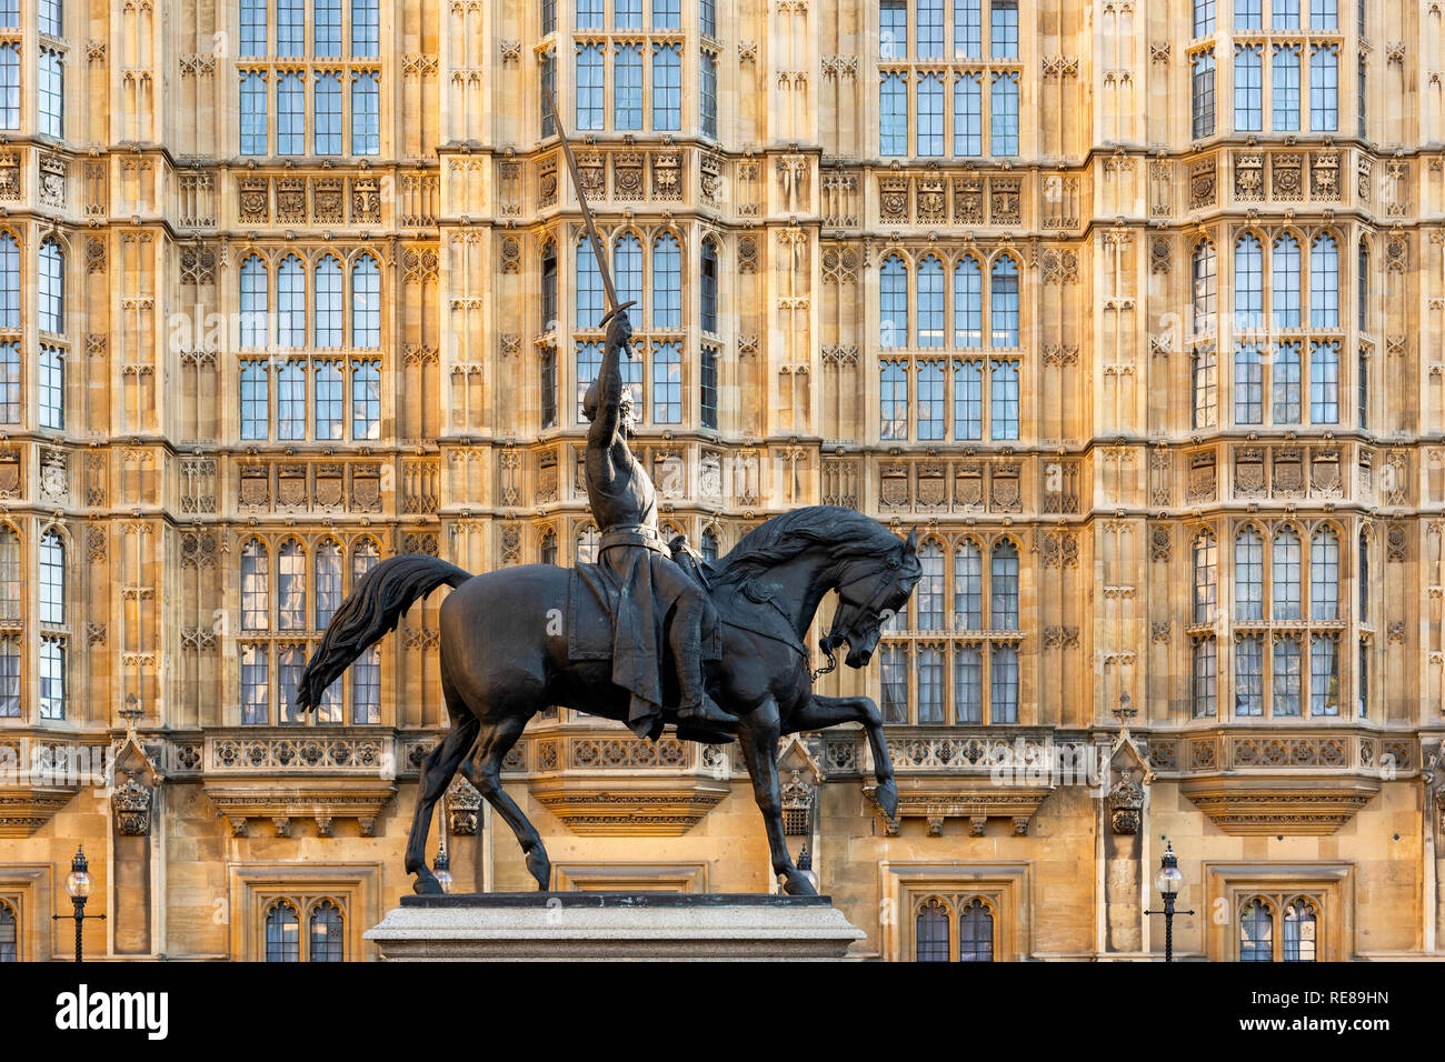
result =
M460 587L471 578L454 564L435 556L403 553L368 571L327 624L321 644L296 683L296 709L306 712L353 660L396 630L418 598L438 587Z

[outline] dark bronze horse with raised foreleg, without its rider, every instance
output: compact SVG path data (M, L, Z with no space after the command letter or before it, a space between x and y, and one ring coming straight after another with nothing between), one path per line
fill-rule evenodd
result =
M722 659L708 675L708 691L737 715L737 737L767 826L773 871L795 896L814 894L793 865L783 838L777 780L777 740L783 734L861 722L873 747L877 800L897 808L883 718L867 696L821 696L805 646L814 614L828 591L838 592L832 627L819 646L848 643L847 663L864 668L881 626L907 603L922 568L915 536L906 542L851 509L812 506L773 517L707 566L712 601L722 620ZM432 809L458 767L507 821L527 870L548 889L551 861L542 838L501 787L501 763L523 727L548 705L626 720L627 691L613 685L611 662L569 659L568 639L548 634L549 614L568 616L572 572L536 564L471 575L432 556L383 561L337 610L296 688L296 707L314 708L322 692L368 646L396 629L403 613L442 585L454 592L441 607L442 692L451 730L422 766L420 792L406 845L406 870L418 893L439 893L425 861ZM553 610L561 610L553 611ZM665 718L676 721L669 708ZM727 734L688 733L698 741ZM475 748L475 754L470 753Z

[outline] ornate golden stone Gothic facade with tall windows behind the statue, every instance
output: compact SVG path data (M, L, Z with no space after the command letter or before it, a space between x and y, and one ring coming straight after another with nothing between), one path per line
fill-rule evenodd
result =
M893 720L900 816L861 733L779 750L861 954L1159 954L1169 838L1183 955L1261 919L1274 958L1436 955L1445 35L1438 3L1357 1L1274 29L1023 0L1013 46L1007 0L20 0L0 955L7 925L69 955L82 842L87 955L257 959L270 920L374 957L445 727L439 595L329 721L289 722L286 683L373 558L587 556L600 296L543 81L642 293L660 519L725 552L842 504L931 558L867 672L818 683ZM776 887L733 750L561 711L506 779L555 887ZM449 819L458 889L530 887L461 783Z

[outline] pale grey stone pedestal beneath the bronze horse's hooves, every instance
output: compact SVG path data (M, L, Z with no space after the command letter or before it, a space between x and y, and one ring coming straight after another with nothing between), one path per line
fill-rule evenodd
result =
M403 962L841 959L863 936L827 896L720 893L403 896L366 932Z

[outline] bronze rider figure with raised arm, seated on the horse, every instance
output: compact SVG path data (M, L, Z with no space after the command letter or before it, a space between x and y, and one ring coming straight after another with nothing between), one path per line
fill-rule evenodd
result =
M704 633L717 626L704 590L678 566L657 533L657 496L627 436L633 433L631 389L620 357L631 357L631 324L617 309L607 324L607 348L597 381L582 399L587 436L587 498L601 532L597 565L616 591L613 682L631 692L627 725L639 737L662 731L663 642L678 675L678 718L694 727L731 730L737 718L708 696ZM669 621L670 613L670 621Z

